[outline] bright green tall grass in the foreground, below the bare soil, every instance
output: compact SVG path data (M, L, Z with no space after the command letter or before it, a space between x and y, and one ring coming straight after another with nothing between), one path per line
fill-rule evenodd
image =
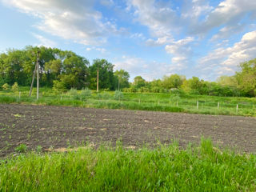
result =
M0 165L0 191L255 191L256 155L199 147L81 148Z

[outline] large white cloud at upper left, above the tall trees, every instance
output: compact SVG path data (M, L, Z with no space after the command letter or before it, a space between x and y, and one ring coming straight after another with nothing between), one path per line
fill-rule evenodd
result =
M103 22L102 14L94 10L93 0L2 1L40 18L42 22L36 25L38 29L85 45L102 44L110 34L120 32L114 23Z

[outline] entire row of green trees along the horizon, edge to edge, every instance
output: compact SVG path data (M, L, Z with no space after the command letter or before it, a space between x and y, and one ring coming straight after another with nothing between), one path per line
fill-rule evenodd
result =
M221 76L216 82L207 82L197 77L186 79L179 74L164 76L151 82L137 76L133 82L129 82L130 74L126 70L114 71L114 65L106 59L94 59L90 64L86 58L72 51L44 46L26 46L22 50L12 49L0 54L0 86L14 85L15 82L19 86L30 86L38 50L40 86L53 87L61 92L85 87L95 90L98 71L101 90L256 96L256 58L241 63L234 76Z

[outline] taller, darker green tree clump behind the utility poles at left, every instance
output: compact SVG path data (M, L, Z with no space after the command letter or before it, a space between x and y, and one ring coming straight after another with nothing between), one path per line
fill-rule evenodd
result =
M90 62L72 51L47 48L44 46L26 46L23 50L7 50L0 54L0 85L7 83L30 86L34 73L37 52L39 51L40 86L54 87L56 90L96 89L97 70L99 71L99 88L118 89L129 85L129 74L125 70L114 72L114 65L106 59Z

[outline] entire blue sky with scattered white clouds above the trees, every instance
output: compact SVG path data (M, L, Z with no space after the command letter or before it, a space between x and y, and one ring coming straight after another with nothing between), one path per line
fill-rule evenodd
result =
M256 58L255 0L0 0L0 52L57 47L106 58L130 81L215 81Z

